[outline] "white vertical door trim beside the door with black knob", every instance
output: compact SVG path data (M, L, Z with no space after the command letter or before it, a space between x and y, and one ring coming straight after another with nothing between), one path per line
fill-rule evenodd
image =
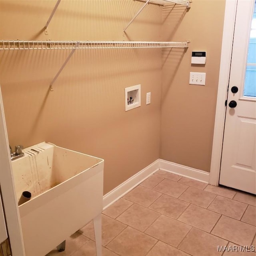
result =
M222 143L226 117L225 100L230 76L231 54L234 38L236 8L238 0L226 0L224 26L222 35L222 50L220 58L220 74L215 112L214 136L212 143L212 158L209 184L218 186L220 178L220 164L222 156Z

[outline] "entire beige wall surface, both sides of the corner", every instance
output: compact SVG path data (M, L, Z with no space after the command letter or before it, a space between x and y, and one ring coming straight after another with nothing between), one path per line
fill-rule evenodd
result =
M53 92L49 84L70 50L0 51L11 146L49 141L104 158L104 193L159 157L209 171L224 0L194 0L188 12L178 5L162 12L150 4L127 34L122 30L142 2L62 0L45 35L55 3L1 0L0 39L191 43L187 51L76 50ZM205 67L191 67L192 50L207 51ZM190 71L206 72L206 86L189 85ZM124 88L136 84L142 106L125 112Z

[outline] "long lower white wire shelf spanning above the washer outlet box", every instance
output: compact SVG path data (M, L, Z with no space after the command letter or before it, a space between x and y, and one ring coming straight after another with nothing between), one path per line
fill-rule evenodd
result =
M189 42L0 40L0 50L187 48Z

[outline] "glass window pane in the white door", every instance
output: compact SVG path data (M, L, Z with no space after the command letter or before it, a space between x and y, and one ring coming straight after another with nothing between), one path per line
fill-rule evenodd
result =
M256 97L256 1L254 3L254 12L250 31L244 96Z

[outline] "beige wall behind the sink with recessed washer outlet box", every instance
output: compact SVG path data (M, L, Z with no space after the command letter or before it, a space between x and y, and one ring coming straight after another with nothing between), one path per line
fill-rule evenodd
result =
M142 6L133 0L0 1L0 38L128 40L122 30ZM149 5L127 30L130 40L160 40L161 8ZM3 26L4 24L4 26ZM159 158L160 49L0 52L8 137L12 147L42 141L104 158L104 193ZM124 111L124 88L141 84L142 105ZM146 105L146 92L152 103Z

